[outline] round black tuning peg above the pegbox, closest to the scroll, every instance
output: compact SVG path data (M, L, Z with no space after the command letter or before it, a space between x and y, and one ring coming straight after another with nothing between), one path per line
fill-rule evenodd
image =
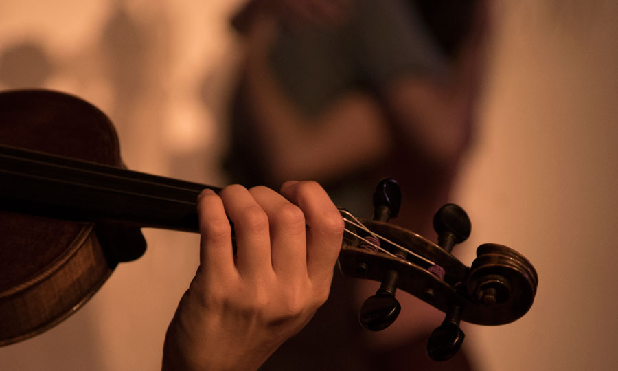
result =
M447 203L435 213L433 229L438 234L438 245L450 253L456 243L464 242L470 237L472 224L464 209Z

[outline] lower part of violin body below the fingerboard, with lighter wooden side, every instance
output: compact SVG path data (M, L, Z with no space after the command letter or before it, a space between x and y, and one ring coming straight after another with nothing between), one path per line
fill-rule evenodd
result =
M0 212L0 346L75 313L111 275L94 223ZM50 238L58 236L58 238Z

